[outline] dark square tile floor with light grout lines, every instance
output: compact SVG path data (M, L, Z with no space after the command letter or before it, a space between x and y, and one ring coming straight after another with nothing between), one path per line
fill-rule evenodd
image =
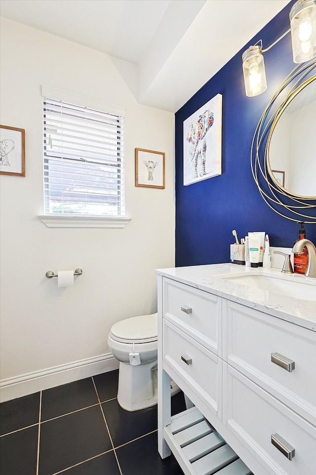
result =
M157 406L124 411L117 390L118 370L0 404L1 475L183 475L158 454Z

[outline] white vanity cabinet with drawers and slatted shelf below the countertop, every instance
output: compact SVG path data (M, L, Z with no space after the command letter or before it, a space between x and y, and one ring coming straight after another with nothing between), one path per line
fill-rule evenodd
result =
M316 332L181 280L158 275L161 457L186 475L315 475ZM195 404L174 417L170 377Z

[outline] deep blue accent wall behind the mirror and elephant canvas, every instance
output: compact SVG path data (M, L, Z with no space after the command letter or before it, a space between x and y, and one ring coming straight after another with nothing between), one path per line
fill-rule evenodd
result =
M298 238L299 224L269 208L250 168L251 142L261 114L295 67L290 34L264 53L268 89L263 94L246 97L241 61L250 44L262 39L267 47L289 28L294 3L286 5L175 115L176 266L228 262L233 229L239 239L248 231L265 231L271 246L292 247ZM210 61L211 57L210 45ZM222 174L184 186L183 122L218 93L223 96ZM316 244L316 224L306 224L306 230L307 238Z

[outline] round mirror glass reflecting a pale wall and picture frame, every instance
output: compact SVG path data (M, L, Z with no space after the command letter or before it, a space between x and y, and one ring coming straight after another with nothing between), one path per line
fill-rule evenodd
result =
M274 182L292 195L316 199L316 75L286 98L268 141Z

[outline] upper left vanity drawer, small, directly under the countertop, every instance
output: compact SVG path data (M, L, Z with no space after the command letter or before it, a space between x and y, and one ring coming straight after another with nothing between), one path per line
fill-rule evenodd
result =
M170 279L165 279L163 290L164 317L220 355L221 299Z

